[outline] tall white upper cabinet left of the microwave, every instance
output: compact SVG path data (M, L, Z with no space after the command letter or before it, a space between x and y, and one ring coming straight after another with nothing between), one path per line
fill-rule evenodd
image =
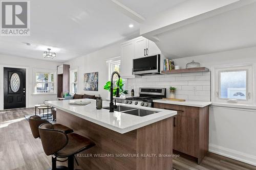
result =
M121 45L121 76L122 78L133 77L134 42Z

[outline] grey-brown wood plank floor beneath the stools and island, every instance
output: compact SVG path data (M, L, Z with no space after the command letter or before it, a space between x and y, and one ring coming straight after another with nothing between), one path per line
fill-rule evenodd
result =
M0 111L0 170L44 170L51 167L51 156L45 155L40 139L33 138L24 118L24 115L33 113L34 108ZM175 158L173 163L179 170L256 170L256 166L213 153L208 153L200 165L182 157ZM67 162L57 162L60 164L66 165Z

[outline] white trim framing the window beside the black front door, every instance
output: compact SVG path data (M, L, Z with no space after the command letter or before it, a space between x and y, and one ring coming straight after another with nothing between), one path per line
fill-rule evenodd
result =
M37 73L41 73L41 74L53 74L53 92L49 92L49 93L37 93L36 92L36 85L37 83L40 83L40 82L37 82L36 81L36 74ZM56 91L57 91L57 78L56 78L56 75L57 75L57 70L53 70L53 69L37 69L37 68L33 68L33 78L32 78L32 82L33 82L33 88L32 88L32 94L33 95L47 95L47 94L57 94ZM41 82L41 83L44 83L44 82ZM48 82L49 83L49 82ZM50 82L51 83L51 82Z

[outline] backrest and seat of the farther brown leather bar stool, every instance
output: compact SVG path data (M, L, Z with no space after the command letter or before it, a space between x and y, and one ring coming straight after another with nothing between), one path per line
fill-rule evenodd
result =
M32 135L34 138L40 137L39 135L39 126L44 123L49 123L48 120L41 119L40 116L34 115L29 117L29 126L32 132ZM53 124L53 127L55 130L64 132L64 133L72 133L73 129L70 129L67 126L61 125L61 124Z

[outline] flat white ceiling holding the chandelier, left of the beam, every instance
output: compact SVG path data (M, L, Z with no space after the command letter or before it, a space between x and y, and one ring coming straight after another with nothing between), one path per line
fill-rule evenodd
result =
M31 35L0 36L0 53L44 59L50 47L53 61L67 61L139 35L139 23L105 0L33 0L30 6Z

